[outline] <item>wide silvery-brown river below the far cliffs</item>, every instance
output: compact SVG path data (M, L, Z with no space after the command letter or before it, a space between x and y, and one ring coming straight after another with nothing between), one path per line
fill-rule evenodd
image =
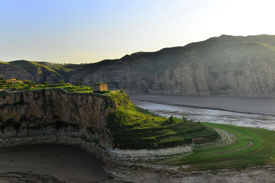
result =
M161 116L275 130L275 98L130 95L131 102Z

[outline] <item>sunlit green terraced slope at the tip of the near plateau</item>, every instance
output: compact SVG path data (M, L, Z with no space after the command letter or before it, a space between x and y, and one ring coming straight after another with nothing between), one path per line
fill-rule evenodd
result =
M201 123L156 116L133 105L124 92L109 97L118 109L107 116L107 127L113 132L114 144L119 148L161 148L189 144L194 137L216 137L217 133Z

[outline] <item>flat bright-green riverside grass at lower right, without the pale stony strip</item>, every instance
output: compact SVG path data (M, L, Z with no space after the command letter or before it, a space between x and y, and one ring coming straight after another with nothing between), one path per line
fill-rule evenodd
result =
M167 165L187 165L184 171L236 169L275 164L275 132L266 129L236 127L203 123L221 128L235 136L232 143L195 145L193 153L177 160L167 160ZM161 161L160 161L161 162ZM158 162L158 163L160 163Z

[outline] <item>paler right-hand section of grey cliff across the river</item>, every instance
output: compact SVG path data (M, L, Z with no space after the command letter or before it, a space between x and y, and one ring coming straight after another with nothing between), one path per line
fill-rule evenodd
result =
M202 64L185 64L188 62L181 60L156 78L148 90L162 94L274 97L274 67L261 57L243 59L247 62L236 60L228 69L208 69Z

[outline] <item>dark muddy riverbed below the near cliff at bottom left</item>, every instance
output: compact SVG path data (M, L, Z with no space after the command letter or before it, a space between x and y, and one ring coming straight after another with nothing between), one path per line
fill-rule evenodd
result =
M102 161L73 145L38 144L0 148L0 182L121 183ZM32 180L32 181L30 181Z

